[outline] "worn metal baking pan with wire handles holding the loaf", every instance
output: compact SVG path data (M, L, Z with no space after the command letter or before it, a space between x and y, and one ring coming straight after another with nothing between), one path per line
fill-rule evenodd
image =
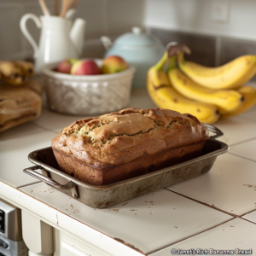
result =
M206 126L215 135L207 140L201 156L175 166L125 179L117 183L102 186L90 185L61 172L51 147L38 149L30 153L28 160L36 166L26 168L23 172L72 196L89 207L110 207L119 202L128 201L139 195L148 194L209 172L217 156L227 152L229 146L215 140L215 138L223 135L222 131L212 125ZM41 170L42 174L35 170Z

